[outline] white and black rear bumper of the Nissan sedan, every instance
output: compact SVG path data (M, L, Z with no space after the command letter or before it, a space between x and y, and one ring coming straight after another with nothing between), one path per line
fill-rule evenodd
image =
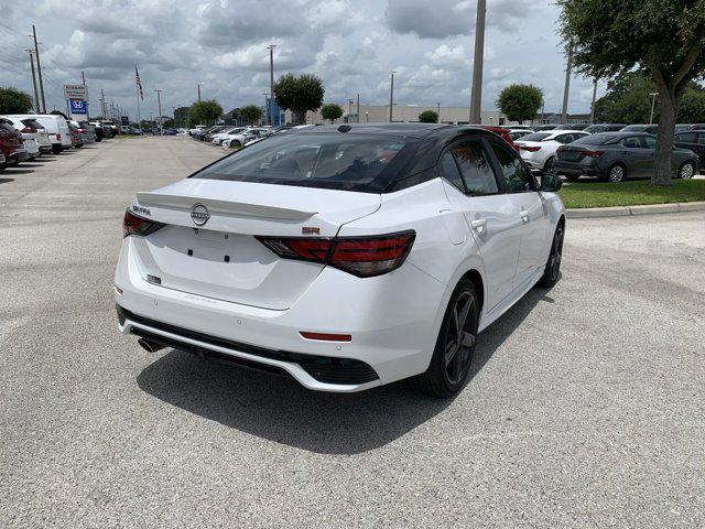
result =
M130 239L115 280L123 333L283 370L322 391L365 390L429 366L446 287L410 263L367 279L326 267L290 309L271 310L150 283ZM306 339L302 331L349 334L351 341Z

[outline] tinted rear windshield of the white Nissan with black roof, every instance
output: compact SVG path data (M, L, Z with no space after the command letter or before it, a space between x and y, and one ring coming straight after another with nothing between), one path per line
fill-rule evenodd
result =
M381 193L417 141L349 133L281 134L252 143L192 177Z

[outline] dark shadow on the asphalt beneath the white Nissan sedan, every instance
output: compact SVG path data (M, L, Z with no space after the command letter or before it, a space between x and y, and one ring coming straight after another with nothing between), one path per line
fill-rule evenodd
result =
M463 391L473 391L471 379L540 301L553 302L545 289L533 289L480 334ZM147 366L137 384L205 419L324 454L359 454L384 446L454 401L420 395L404 381L349 395L311 391L290 378L204 361L175 349Z

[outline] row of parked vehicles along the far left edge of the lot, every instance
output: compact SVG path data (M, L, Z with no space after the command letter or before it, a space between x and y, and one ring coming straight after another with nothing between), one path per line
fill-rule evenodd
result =
M112 121L75 121L54 114L17 114L0 116L0 171L34 160L43 154L58 154L66 149L113 138L119 128Z

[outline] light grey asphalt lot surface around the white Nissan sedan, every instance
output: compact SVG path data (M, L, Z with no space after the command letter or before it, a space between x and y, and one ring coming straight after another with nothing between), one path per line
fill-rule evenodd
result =
M117 331L124 207L223 154L0 173L0 527L705 527L705 213L570 222L454 400L316 393Z

